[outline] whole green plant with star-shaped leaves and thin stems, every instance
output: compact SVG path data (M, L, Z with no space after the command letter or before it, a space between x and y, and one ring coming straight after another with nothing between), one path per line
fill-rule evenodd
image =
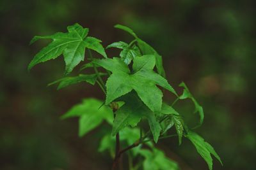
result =
M184 82L179 85L183 89L182 94L177 94L165 79L161 55L152 46L140 39L129 27L124 25L115 25L115 27L134 37L130 43L118 41L106 47L106 49L120 49L118 57L109 58L101 41L88 36L88 28L74 24L67 27L68 32L35 36L31 43L38 39L52 39L52 41L35 55L28 69L63 55L66 66L65 77L49 85L58 83L58 89L83 81L99 85L106 96L105 101L83 99L82 103L73 106L61 118L79 117L81 137L102 122L108 122L112 126L112 132L102 138L99 151L109 151L114 159L113 169L123 153L129 156L130 169L139 169L141 166L143 169L179 169L177 163L154 147L154 143L159 139L176 136L179 145L183 137L188 138L207 162L209 169L212 169L212 155L220 162L221 159L214 148L194 132L194 129L200 127L204 121L202 106L198 104ZM102 55L103 59L93 57L91 50ZM67 76L74 67L84 61L86 55L87 62L80 69L85 73ZM105 71L100 72L100 67ZM95 73L86 73L90 68ZM172 104L163 102L164 89L176 97ZM195 105L195 113L200 117L196 127L188 127L179 111L173 108L175 103L184 99L190 99ZM148 131L143 129L141 125L143 122L148 123ZM175 128L176 134L170 134L172 128ZM140 162L134 161L139 158L143 159Z

